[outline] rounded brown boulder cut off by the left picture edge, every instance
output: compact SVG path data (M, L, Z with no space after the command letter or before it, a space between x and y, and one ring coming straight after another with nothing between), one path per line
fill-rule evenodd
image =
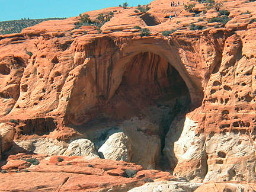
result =
M0 123L0 159L1 154L11 148L13 144L14 134L14 127L9 126L5 123Z

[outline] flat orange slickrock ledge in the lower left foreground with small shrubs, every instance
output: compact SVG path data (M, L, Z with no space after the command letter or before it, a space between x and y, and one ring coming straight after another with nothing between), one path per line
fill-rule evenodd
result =
M40 162L39 165L27 162L35 158ZM145 178L175 178L169 172L142 170L140 165L123 161L100 158L89 160L88 156L45 158L19 154L9 156L7 161L1 167L7 173L0 173L0 188L5 191L129 191L145 184L148 181ZM22 167L22 164L28 164L28 167ZM116 174L127 169L135 170L136 177L127 178L126 175Z

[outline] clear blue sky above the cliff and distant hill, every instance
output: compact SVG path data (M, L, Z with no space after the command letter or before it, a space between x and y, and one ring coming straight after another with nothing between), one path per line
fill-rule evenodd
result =
M129 7L138 4L149 4L152 0L124 0L124 1L104 1L104 0L0 0L0 21L20 20L21 18L50 18L50 17L74 17L80 13L107 8L117 7L124 2Z

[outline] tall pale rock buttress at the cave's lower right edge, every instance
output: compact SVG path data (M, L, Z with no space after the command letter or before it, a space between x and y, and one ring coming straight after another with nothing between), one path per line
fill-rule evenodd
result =
M196 136L197 124L188 117L176 119L165 137L164 148L174 174L193 182L203 181L207 172L205 136Z

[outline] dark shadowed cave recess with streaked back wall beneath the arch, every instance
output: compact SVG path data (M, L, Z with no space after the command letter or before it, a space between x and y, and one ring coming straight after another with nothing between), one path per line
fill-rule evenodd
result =
M122 121L132 119L130 123L137 132L159 138L161 146L152 164L157 169L168 169L162 153L165 135L175 117L191 104L187 85L174 66L155 53L138 53L125 64L120 85L109 104L112 117ZM124 129L132 135L129 128ZM139 155L133 154L133 147L130 161L143 164Z

